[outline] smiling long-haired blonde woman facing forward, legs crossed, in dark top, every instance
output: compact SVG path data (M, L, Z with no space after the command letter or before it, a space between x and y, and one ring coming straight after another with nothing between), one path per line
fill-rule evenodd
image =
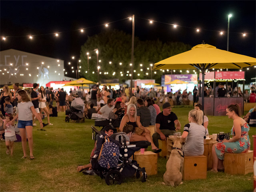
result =
M158 149L150 135L150 130L141 125L139 118L137 117L137 110L134 104L130 104L127 109L127 114L122 118L119 130L122 132L124 125L132 125L134 128L134 133L130 137L130 141L148 141L152 145L152 150L154 153L159 153L162 150Z

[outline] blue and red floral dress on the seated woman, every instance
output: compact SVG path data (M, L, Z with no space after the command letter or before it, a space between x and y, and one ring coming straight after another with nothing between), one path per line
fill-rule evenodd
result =
M218 142L218 144L215 146L217 157L220 160L223 160L224 153L246 153L248 150L250 150L250 140L248 136L249 130L250 127L247 123L245 123L243 126L241 126L241 137L238 141L230 143ZM236 135L234 126L231 129L231 134L233 136Z

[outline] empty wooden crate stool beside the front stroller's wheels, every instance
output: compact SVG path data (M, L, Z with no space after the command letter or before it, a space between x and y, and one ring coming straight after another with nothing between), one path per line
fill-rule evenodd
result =
M134 153L134 160L138 162L140 167L145 167L148 175L157 174L157 154L152 151L144 151L144 154L139 152Z

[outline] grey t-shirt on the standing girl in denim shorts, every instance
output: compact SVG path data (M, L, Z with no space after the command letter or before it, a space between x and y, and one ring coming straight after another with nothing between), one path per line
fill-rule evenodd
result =
M29 120L33 120L32 118L32 111L30 109L30 107L34 107L34 105L32 104L31 101L29 102L20 102L18 103L18 112L19 112L19 120L22 121L29 121Z

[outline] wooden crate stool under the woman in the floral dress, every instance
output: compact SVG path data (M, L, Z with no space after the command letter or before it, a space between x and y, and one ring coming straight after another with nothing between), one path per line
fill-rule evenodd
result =
M253 172L253 151L247 153L225 153L224 172L228 174L248 174Z

